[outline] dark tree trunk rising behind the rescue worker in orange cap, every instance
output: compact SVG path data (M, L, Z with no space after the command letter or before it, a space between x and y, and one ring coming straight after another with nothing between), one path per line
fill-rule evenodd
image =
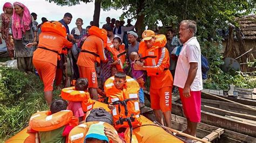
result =
M136 31L138 33L139 38L142 38L142 33L145 30L145 25L144 25L144 15L139 13L142 11L143 7L144 7L144 0L139 1L138 3L138 9L136 11L136 15L137 15L137 22L136 22Z

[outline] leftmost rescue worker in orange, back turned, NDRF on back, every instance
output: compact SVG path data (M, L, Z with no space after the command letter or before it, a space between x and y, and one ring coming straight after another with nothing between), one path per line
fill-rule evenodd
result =
M52 102L53 81L55 79L57 59L63 46L71 48L66 36L66 28L59 22L46 22L42 25L38 48L33 53L33 65L44 83L44 97L50 105ZM28 47L37 42L28 44Z

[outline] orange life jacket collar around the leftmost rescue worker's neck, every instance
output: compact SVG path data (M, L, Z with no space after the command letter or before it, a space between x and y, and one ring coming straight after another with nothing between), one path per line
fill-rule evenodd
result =
M41 26L42 32L53 32L60 36L66 37L66 28L60 22L45 22Z

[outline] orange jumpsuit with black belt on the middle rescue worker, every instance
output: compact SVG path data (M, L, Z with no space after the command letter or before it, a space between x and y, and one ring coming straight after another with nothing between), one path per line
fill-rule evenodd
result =
M104 53L103 40L96 35L90 35L84 41L81 52L79 53L77 59L79 75L80 77L85 77L88 79L88 88L98 88L95 62L100 62L100 60L104 62L107 61Z

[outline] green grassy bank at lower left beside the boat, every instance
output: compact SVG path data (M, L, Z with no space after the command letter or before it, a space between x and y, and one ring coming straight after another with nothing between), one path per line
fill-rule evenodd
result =
M6 67L0 68L0 74L0 140L6 140L28 126L33 113L48 110L48 106L38 76Z

